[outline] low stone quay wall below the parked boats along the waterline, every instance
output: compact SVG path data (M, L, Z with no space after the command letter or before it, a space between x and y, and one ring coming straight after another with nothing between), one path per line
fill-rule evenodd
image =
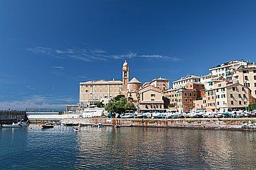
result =
M256 118L198 118L198 119L109 119L109 118L73 118L63 119L63 122L80 124L99 124L105 126L139 126L139 127L165 127L190 129L226 129L248 130L244 124L255 124ZM255 125L254 125L255 127ZM255 131L255 128L250 128Z

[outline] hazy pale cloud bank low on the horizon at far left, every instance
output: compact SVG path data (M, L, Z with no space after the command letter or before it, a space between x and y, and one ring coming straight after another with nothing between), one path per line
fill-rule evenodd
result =
M65 109L66 105L76 103L75 98L67 96L28 96L19 100L0 101L0 110L25 110L26 108L49 109L54 106L56 109Z

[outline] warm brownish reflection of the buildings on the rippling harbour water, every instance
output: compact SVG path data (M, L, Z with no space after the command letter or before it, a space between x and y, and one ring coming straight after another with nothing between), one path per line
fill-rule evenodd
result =
M254 132L134 127L83 131L77 136L78 169L254 168Z

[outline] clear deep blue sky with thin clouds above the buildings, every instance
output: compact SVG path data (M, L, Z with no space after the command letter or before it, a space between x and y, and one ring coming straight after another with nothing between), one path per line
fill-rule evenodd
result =
M80 81L256 61L256 1L0 1L0 110L64 108Z

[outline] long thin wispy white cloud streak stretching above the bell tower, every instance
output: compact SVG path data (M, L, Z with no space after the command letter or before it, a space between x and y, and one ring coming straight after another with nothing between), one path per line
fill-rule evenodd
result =
M140 53L123 53L123 54L109 54L101 49L87 49L87 48L66 48L66 49L54 49L48 47L37 46L35 48L27 48L28 51L38 53L42 55L49 55L55 58L62 59L75 59L83 60L85 62L91 62L95 60L113 60L113 59L124 59L124 58L148 58L152 60L171 60L176 62L181 58L160 55L160 54L140 54ZM57 68L57 67L56 67Z

